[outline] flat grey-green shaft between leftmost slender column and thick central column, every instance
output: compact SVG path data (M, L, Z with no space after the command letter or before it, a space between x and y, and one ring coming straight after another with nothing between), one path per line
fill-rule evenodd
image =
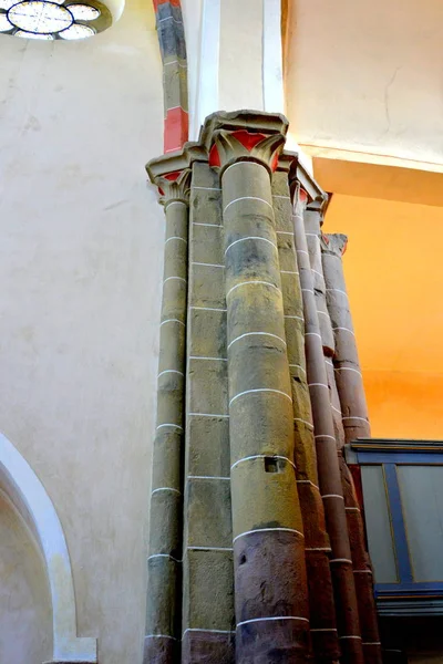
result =
M183 556L183 664L234 662L234 566L222 189L190 185Z

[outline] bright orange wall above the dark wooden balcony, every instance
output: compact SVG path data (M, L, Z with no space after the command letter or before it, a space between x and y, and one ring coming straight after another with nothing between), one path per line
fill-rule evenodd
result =
M336 194L374 437L443 439L443 208Z

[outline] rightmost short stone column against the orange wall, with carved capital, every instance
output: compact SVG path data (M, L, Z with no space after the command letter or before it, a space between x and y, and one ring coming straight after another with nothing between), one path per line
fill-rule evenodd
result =
M333 362L337 388L346 442L351 443L356 438L369 438L371 430L341 260L347 241L348 238L343 235L326 235L322 263L328 310L337 346Z

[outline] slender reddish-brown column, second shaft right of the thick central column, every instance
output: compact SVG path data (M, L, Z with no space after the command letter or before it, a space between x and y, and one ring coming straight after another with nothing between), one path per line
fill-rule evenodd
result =
M317 461L328 533L331 542L331 573L334 584L337 621L343 661L363 663L359 613L352 572L351 549L344 511L340 468L337 457L334 428L330 407L322 340L313 292L303 214L307 197L297 189L293 227L303 293L306 354L311 395Z

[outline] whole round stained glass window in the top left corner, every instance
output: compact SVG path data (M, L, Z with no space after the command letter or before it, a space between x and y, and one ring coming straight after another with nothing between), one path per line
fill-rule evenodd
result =
M25 39L76 40L102 32L111 24L109 10L99 1L0 0L0 33Z

